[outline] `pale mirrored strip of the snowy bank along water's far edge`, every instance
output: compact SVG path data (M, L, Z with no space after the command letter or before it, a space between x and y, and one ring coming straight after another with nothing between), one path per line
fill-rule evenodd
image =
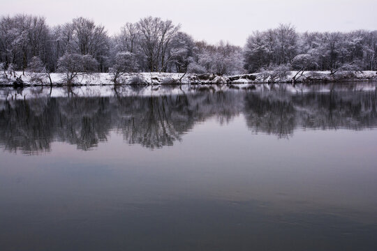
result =
M60 97L110 97L110 96L175 96L188 93L224 93L252 92L252 93L285 93L288 95L302 95L303 93L330 93L336 91L377 91L377 82L339 82L321 84L182 84L182 85L149 85L149 86L26 86L22 89L7 86L0 88L1 100L28 100L33 98L60 98Z

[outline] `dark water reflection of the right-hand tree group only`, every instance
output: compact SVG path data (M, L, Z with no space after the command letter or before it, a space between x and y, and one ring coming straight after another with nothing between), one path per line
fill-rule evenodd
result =
M281 91L245 95L246 123L255 132L288 137L296 128L360 130L377 125L377 94L330 91L292 95Z

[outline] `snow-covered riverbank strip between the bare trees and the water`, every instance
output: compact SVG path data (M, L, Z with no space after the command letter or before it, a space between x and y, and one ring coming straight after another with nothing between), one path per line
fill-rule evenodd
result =
M64 73L8 73L0 76L1 86L13 86L21 82L25 86L66 85ZM113 85L111 73L92 73L77 75L74 85ZM275 72L254 73L234 76L217 76L210 74L184 73L128 73L121 76L120 84L164 85L164 84L267 84L267 83L309 83L309 82L346 82L346 81L377 81L375 71L339 71L331 74L329 71L306 71L297 75L290 71L286 74ZM50 81L51 80L51 81Z

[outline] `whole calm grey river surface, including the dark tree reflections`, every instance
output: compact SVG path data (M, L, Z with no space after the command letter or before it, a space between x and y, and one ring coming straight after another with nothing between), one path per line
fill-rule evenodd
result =
M377 250L377 93L0 100L0 250Z

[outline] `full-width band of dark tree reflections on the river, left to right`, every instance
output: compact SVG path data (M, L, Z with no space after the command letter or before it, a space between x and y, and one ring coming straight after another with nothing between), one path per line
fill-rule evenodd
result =
M154 149L181 141L195 123L214 116L223 124L242 115L251 131L277 137L293 137L297 128L362 130L377 125L376 90L323 92L313 86L296 93L209 89L140 95L143 91L80 96L69 90L64 97L50 98L40 95L42 90L24 99L7 94L0 100L0 146L32 154L50 151L51 143L59 141L89 150L117 130L128 144Z

